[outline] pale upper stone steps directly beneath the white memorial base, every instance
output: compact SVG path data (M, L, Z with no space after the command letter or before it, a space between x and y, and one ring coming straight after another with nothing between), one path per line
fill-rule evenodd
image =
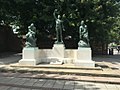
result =
M100 69L100 68L84 68L75 66L57 66L57 65L39 65L39 66L19 66L19 65L4 65L0 67L1 72L20 72L20 73L45 73L45 74L60 74L60 75L82 75L82 76L97 76L97 77L118 77L120 78L120 70Z

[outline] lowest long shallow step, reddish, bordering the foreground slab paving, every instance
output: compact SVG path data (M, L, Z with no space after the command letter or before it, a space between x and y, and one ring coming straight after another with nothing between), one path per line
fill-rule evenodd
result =
M94 82L94 83L109 83L120 84L120 78L118 77L98 77L98 76L82 76L82 75L61 75L61 74L45 74L45 73L14 73L14 72L0 72L0 77L6 78L26 78L26 79L51 79L51 80L69 80L69 81L82 81L82 82ZM24 83L24 82L22 82Z

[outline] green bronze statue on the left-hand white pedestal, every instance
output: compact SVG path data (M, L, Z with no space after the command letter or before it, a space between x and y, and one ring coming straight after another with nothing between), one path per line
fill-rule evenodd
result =
M36 47L36 38L35 38L36 27L33 23L28 26L28 33L26 34L26 47Z

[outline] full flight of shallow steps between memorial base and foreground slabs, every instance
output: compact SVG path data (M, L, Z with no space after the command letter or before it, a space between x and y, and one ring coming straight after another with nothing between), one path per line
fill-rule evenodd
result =
M74 65L3 65L0 72L19 73L20 78L38 78L55 80L78 80L99 83L120 84L120 71L100 67L80 67Z

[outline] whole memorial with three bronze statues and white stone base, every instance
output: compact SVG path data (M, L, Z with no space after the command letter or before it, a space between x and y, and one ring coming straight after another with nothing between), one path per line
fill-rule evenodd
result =
M42 63L48 64L74 64L83 67L95 67L92 61L91 48L89 45L88 29L84 21L79 26L78 49L66 49L62 40L62 31L64 29L63 21L60 15L56 15L57 9L54 10L56 38L52 49L38 49L36 47L35 30L33 23L28 26L26 34L26 47L23 48L22 59L19 65L37 65Z

